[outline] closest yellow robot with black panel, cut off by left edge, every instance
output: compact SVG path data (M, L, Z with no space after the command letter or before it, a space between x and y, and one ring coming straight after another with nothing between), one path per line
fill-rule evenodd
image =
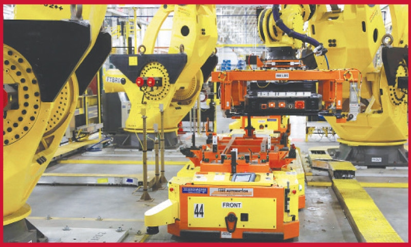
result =
M4 20L3 225L30 214L25 203L110 51L105 8L16 5Z

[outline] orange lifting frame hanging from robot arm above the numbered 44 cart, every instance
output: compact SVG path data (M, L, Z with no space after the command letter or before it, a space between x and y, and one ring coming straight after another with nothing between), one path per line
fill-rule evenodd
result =
M347 76L348 75L348 76ZM212 72L211 81L221 83L221 109L229 110L233 105L244 102L247 81L318 81L318 92L323 96L325 107L335 102L342 110L343 83L359 82L357 69L335 70L233 70Z

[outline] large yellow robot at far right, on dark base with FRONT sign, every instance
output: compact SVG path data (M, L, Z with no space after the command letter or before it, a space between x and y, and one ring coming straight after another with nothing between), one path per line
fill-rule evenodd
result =
M344 10L331 11L317 5L309 27L311 36L328 48L331 69L355 68L362 75L360 84L351 83L349 76L343 83L347 121L326 116L346 147L342 153L348 155L355 147L374 153L386 150L387 157L399 153L394 162L398 165L407 163L403 144L408 137L408 9L389 9L391 34L386 33L380 5L345 5Z

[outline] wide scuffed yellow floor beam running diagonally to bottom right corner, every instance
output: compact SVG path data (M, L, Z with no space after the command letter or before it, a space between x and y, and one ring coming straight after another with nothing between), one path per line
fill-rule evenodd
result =
M333 183L358 241L403 242L358 181L334 179Z

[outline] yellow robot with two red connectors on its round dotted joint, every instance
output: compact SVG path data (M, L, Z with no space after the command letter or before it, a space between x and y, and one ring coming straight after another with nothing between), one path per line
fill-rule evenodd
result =
M158 31L171 12L168 54L153 54ZM150 111L147 131L153 133L154 123L160 122L159 105L163 104L167 119L164 130L166 134L176 132L201 91L203 67L217 42L216 25L214 5L162 5L147 27L138 55L110 56L116 69L107 70L104 83L120 81L132 105L124 130L142 132L140 112L145 108Z

